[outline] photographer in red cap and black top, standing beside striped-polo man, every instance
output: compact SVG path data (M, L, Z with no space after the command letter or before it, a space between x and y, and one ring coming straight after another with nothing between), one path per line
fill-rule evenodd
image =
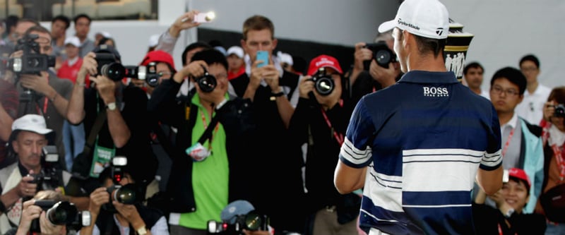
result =
M352 105L343 99L347 95L342 90L342 74L334 57L312 59L308 76L300 80L300 98L290 119L294 145L307 143L305 186L310 220L306 234L357 233L361 197L341 195L333 186L335 162L352 112Z

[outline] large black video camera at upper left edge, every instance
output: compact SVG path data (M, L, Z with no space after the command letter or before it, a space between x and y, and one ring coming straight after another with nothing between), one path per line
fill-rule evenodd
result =
M55 56L40 54L40 45L35 42L40 38L36 34L25 35L20 38L14 49L15 52L23 51L19 58L0 59L0 70L8 70L20 74L40 74L47 71L49 67L55 66Z

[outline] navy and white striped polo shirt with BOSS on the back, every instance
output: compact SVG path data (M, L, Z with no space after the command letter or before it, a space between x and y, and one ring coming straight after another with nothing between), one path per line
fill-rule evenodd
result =
M478 167L501 164L492 103L453 72L410 71L355 107L340 160L369 166L360 225L387 234L474 234Z

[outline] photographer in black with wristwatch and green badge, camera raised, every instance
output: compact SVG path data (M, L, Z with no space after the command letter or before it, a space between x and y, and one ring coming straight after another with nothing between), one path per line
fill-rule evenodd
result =
M100 58L97 58L100 57ZM97 188L98 174L116 155L134 156L131 165L157 165L150 148L147 117L148 98L143 90L121 83L122 77L105 74L102 68L120 66L121 56L114 47L100 45L83 58L69 102L69 122L84 123L87 144L73 163L73 174L87 179L88 193ZM84 87L85 77L93 84ZM112 76L112 79L109 78ZM97 119L100 116L100 119ZM88 140L91 140L88 141ZM90 142L90 143L89 143ZM154 172L153 172L154 173ZM153 181L146 174L138 181Z

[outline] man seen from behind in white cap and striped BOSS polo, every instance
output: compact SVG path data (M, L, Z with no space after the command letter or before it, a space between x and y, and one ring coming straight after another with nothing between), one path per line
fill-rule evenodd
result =
M363 188L359 226L374 234L475 234L473 182L502 186L499 119L489 100L446 71L448 12L437 0L406 0L394 20L405 75L357 103L334 183Z

